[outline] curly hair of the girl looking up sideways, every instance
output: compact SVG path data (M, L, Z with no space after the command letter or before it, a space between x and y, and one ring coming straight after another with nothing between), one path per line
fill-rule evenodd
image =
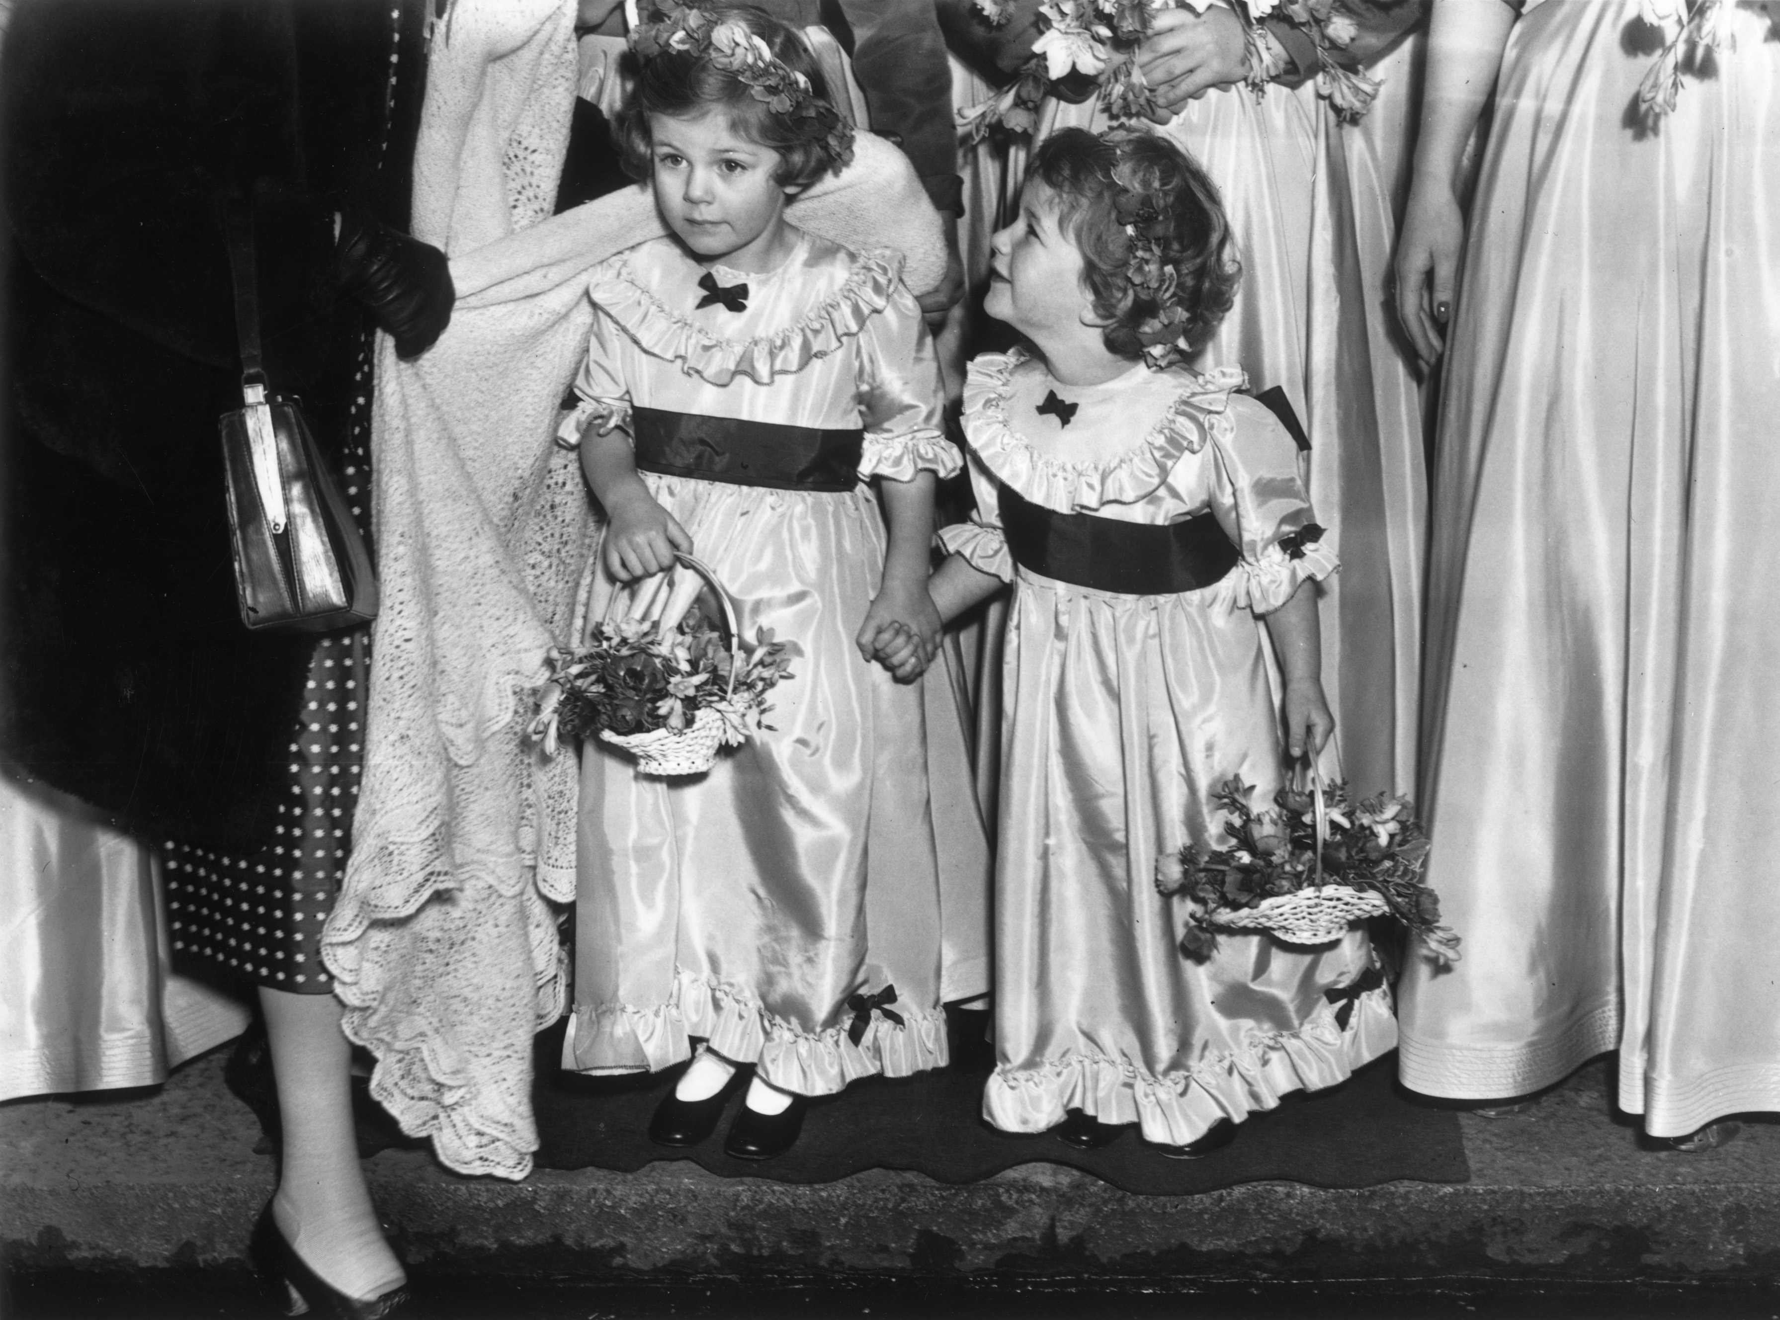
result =
M1143 327L1173 308L1185 313L1173 329L1193 347L1218 329L1235 301L1242 267L1232 253L1218 185L1193 157L1137 128L1098 135L1064 128L1032 153L1032 180L1057 196L1059 226L1082 253L1082 285L1105 322L1102 338L1111 352L1145 356L1153 340L1143 336ZM1136 244L1118 212L1121 196L1129 203L1132 194L1159 203L1153 210L1161 222L1146 233L1173 272L1162 299L1132 283Z

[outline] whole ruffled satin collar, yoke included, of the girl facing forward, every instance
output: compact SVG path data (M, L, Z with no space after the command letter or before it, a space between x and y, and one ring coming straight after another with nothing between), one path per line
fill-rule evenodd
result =
M746 283L749 308L698 311L698 279L707 270L721 285ZM701 267L671 238L655 238L595 267L587 295L644 352L678 361L710 384L737 375L771 384L856 336L890 304L901 278L899 253L851 253L808 233L764 274ZM675 294L684 308L664 299Z

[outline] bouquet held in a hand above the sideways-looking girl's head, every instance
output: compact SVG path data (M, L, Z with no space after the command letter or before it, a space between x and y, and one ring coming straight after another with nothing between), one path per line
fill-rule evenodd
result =
M1205 12L1210 0L1182 0ZM1038 125L1040 101L1052 89L1100 87L1100 103L1114 123L1139 119L1155 110L1155 93L1137 68L1137 48L1150 36L1155 14L1175 0L1043 0L1043 32L1032 43L1032 57L1018 76L990 100L958 112L958 123L981 141L1000 125L1013 133L1031 133ZM977 9L991 23L1007 21L1007 0L977 0ZM1237 0L1234 5L1248 34L1248 85L1257 96L1267 87L1273 55L1260 20L1280 18L1310 36L1317 48L1317 91L1347 121L1360 119L1378 84L1363 73L1342 68L1335 52L1344 50L1358 32L1353 18L1337 0ZM1079 100L1079 96L1077 96Z

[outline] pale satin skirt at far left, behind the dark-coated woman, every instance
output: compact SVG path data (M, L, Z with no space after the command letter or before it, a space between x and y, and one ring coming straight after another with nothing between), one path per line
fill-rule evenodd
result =
M0 1099L164 1082L247 1025L167 966L153 854L0 774Z

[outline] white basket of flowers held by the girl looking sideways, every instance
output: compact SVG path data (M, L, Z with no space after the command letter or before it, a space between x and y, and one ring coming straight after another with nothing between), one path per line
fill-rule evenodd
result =
M1216 793L1228 847L1187 845L1155 863L1155 888L1189 907L1184 955L1210 957L1218 930L1262 929L1290 943L1323 943L1353 920L1392 916L1435 962L1458 962L1460 939L1440 923L1440 898L1422 882L1428 836L1410 799L1353 804L1346 785L1330 785L1319 866L1314 790L1282 788L1273 811L1257 811L1253 792L1237 776Z

